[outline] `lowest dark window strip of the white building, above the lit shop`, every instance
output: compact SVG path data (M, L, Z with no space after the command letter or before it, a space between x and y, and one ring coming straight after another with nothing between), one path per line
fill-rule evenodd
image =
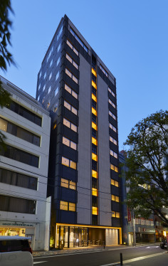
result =
M36 213L36 201L0 195L0 210L14 213Z

